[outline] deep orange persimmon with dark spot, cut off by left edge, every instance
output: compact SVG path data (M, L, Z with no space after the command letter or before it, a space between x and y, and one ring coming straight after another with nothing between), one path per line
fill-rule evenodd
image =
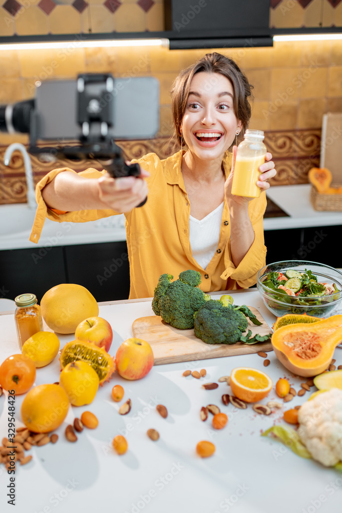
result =
M35 364L25 354L12 354L0 365L0 385L16 395L27 392L35 380Z

